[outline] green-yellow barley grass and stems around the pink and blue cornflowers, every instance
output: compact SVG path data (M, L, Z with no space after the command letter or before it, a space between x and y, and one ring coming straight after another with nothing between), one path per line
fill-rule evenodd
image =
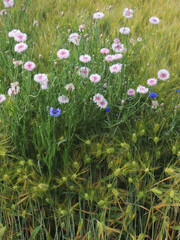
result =
M122 16L126 7L134 10L132 19ZM0 239L180 239L179 8L175 0L17 0L0 16L0 94L6 95L0 105ZM92 19L96 9L105 14L99 22ZM160 23L151 25L151 16ZM74 46L67 39L82 23ZM120 35L122 26L130 36ZM27 33L22 54L8 38L12 29ZM114 75L100 49L110 49L117 37L127 52ZM58 59L60 48L70 50L69 59ZM82 54L92 57L86 66L101 74L100 83L78 76ZM15 68L13 58L37 67ZM160 69L170 79L151 88L157 108L148 95L127 96ZM34 82L37 73L48 75L48 90ZM9 98L16 81L20 93ZM71 82L75 91L67 93ZM93 103L98 91L109 112ZM51 117L60 94L69 103Z

